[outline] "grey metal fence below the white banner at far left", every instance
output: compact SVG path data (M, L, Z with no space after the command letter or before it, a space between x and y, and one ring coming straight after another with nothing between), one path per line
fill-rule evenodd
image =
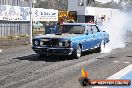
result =
M5 36L20 36L29 35L30 23L29 22L0 22L0 37Z

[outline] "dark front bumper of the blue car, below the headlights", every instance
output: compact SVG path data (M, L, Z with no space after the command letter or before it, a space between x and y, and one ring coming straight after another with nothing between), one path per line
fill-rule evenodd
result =
M52 48L33 46L32 49L33 51L35 51L35 53L52 55L71 55L73 52L73 48Z

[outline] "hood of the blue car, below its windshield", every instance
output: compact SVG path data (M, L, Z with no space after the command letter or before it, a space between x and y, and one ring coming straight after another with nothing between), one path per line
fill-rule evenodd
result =
M76 36L80 36L82 34L46 34L46 35L39 35L35 38L66 38L71 39Z

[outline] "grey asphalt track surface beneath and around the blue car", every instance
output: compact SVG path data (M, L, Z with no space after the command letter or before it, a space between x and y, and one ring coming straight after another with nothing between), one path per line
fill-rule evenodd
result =
M31 46L3 49L0 88L83 88L78 81L82 67L89 72L90 79L107 79L132 64L132 33L126 35L125 43L125 48L110 53L86 52L79 59L39 57ZM131 77L129 74L122 78Z

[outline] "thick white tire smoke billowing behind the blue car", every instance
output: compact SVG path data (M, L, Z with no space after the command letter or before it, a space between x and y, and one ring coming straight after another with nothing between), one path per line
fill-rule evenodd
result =
M109 53L116 48L125 47L127 31L131 31L132 18L128 12L119 12L109 22L103 23L103 29L109 33L110 42L102 48L102 53Z

